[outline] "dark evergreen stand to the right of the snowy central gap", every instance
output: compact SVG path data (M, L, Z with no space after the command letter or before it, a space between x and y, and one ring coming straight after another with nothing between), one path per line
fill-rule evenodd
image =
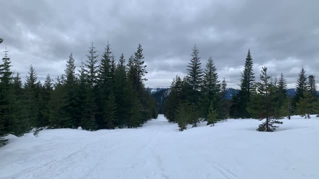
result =
M212 57L209 57L205 69L201 68L199 50L192 49L187 65L187 75L182 79L176 76L170 86L170 93L163 107L163 113L169 122L178 123L179 130L187 124L196 127L200 120L207 120L207 125L214 125L227 118L255 118L264 120L258 131L274 131L279 119L291 115L310 118L310 114L319 112L319 100L316 93L315 76L306 76L304 67L299 73L296 95L287 95L287 80L283 73L279 78L270 77L268 68L263 67L255 81L253 58L250 50L241 73L238 93L232 99L226 99L227 84L225 79L218 80L217 69Z

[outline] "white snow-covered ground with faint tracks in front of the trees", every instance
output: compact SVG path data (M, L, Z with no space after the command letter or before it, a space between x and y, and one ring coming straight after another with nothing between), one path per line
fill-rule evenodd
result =
M138 129L42 130L10 136L0 179L319 179L319 118L228 119L179 132L160 115Z

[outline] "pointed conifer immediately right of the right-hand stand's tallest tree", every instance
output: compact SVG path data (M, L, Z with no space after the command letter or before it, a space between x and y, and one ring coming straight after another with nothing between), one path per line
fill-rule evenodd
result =
M202 117L206 118L210 104L213 103L218 111L221 111L221 98L220 98L220 84L218 80L217 69L214 65L213 59L208 58L206 69L203 76L203 83L201 92L203 93L202 99ZM221 112L220 112L221 113Z

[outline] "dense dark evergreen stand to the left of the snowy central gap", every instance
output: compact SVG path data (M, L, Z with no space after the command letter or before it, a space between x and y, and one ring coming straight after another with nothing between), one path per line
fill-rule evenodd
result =
M55 80L47 75L43 85L33 65L23 83L20 74L11 71L7 52L0 65L2 143L7 134L21 136L34 129L136 128L158 116L155 99L144 85L148 72L141 44L126 63L123 53L117 62L109 42L99 57L92 42L78 72L71 53L64 73Z

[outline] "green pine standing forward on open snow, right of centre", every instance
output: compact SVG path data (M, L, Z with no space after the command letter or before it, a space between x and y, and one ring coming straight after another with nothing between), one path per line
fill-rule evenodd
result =
M276 105L273 105L273 99L276 96L276 89L274 84L270 82L267 70L267 67L262 68L261 83L257 83L258 92L253 93L247 110L255 119L266 119L263 124L259 125L258 131L273 132L278 127L274 124L282 124L283 122L279 121L275 116Z

